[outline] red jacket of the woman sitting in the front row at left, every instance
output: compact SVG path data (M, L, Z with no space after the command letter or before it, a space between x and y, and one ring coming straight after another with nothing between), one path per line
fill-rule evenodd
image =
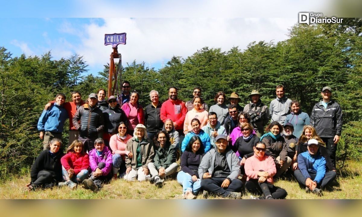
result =
M88 154L75 154L70 151L60 159L60 162L66 170L72 168L74 174L77 175L81 170L88 170L89 156Z

